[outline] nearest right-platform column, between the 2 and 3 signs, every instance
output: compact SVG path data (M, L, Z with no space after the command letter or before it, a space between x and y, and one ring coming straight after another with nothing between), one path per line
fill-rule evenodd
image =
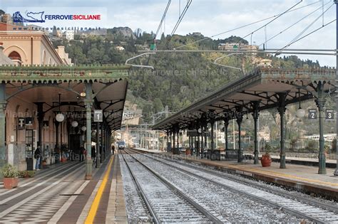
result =
M316 105L319 110L319 169L318 174L327 174L326 168L326 159L324 152L324 106L325 106L325 98L323 96L323 87L324 84L319 81L317 85L317 94L318 98L315 100Z

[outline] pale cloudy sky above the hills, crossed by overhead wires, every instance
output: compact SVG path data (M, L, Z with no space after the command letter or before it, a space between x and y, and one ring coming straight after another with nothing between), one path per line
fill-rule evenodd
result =
M99 26L104 28L128 26L133 31L136 28L140 28L142 31L150 33L150 31L155 32L157 30L167 3L168 0L0 0L0 9L11 14L15 11L21 11L21 13L24 11L45 11L45 14L101 14L101 21L53 21L46 23L45 26ZM178 21L180 11L183 11L185 4L187 4L187 0L171 1L165 23L160 28L160 33L167 35L172 32L175 23ZM327 11L324 16L321 16L323 4L324 10ZM295 6L292 9L302 8L283 14L258 31L256 31L258 28L264 26L273 18L252 26L230 31L248 23L260 21L263 18L281 14L292 6ZM304 19L299 21L302 18ZM276 38L267 42L267 48L280 49L297 38L299 34L304 36L335 18L336 5L334 5L333 0L192 0L183 21L175 33L185 35L200 32L204 36L213 36L212 38L214 39L227 38L229 36L247 36L245 39L249 43L260 45L265 42L265 37L268 40L283 31ZM315 21L316 19L317 21ZM299 22L295 26L284 31L285 28L297 21ZM311 24L312 26L310 26ZM307 31L304 31L308 26ZM217 33L225 31L230 32L215 36ZM255 32L252 33L253 31ZM303 34L302 31L304 31ZM335 49L336 23L333 22L319 29L312 35L292 44L289 48ZM298 56L302 59L319 60L320 65L336 66L334 55Z

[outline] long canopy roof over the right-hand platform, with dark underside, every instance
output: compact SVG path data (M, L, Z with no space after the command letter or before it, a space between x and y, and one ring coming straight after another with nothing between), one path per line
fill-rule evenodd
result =
M333 69L259 68L161 120L153 129L186 129L201 119L207 122L208 119L234 119L233 114L251 113L255 105L259 111L279 107L280 97L285 97L283 103L288 105L299 100L322 97L319 96L322 94L332 94L335 90L335 74Z

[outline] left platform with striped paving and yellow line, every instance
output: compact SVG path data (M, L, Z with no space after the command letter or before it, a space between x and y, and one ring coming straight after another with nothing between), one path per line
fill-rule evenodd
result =
M127 223L118 156L93 167L91 180L85 172L85 162L67 161L0 186L0 223Z

